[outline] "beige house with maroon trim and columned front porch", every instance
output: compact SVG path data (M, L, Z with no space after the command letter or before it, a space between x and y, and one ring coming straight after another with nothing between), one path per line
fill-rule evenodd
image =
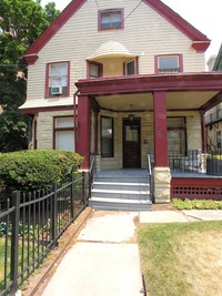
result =
M145 169L150 153L155 202L169 201L169 153L205 151L204 112L221 100L209 45L159 0L71 1L23 55L32 146L77 151L84 170L91 155L99 170Z

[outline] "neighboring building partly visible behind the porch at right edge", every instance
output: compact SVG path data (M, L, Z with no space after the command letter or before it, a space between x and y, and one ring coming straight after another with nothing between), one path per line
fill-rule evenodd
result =
M214 60L212 71L222 71L222 44ZM205 124L209 151L222 151L222 103L219 102L206 112Z

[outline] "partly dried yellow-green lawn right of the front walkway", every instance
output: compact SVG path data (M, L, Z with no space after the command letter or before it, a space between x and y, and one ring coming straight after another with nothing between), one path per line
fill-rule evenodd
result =
M149 296L222 295L222 222L152 224L139 229Z

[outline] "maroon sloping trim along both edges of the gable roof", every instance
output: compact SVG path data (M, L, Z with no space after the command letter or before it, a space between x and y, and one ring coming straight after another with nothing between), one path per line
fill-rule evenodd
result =
M145 4L167 19L182 33L190 38L192 47L198 52L204 52L210 45L210 40L202 34L182 17L175 13L171 8L160 0L142 0ZM29 64L33 64L38 59L39 51L49 42L49 40L64 25L64 23L87 2L87 0L72 0L70 4L59 14L59 17L46 29L46 31L36 40L33 44L24 52L23 58Z

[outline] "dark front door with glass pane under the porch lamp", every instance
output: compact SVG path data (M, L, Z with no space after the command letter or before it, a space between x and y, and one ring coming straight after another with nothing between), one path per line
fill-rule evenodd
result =
M123 119L123 167L141 167L140 119Z

